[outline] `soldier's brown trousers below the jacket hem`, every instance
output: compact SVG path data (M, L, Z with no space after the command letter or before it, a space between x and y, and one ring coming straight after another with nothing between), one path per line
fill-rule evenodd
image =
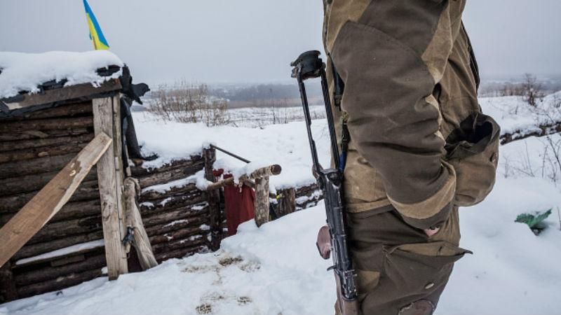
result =
M432 237L391 207L349 214L348 222L363 315L433 314L454 262L470 253L459 248L457 208Z

